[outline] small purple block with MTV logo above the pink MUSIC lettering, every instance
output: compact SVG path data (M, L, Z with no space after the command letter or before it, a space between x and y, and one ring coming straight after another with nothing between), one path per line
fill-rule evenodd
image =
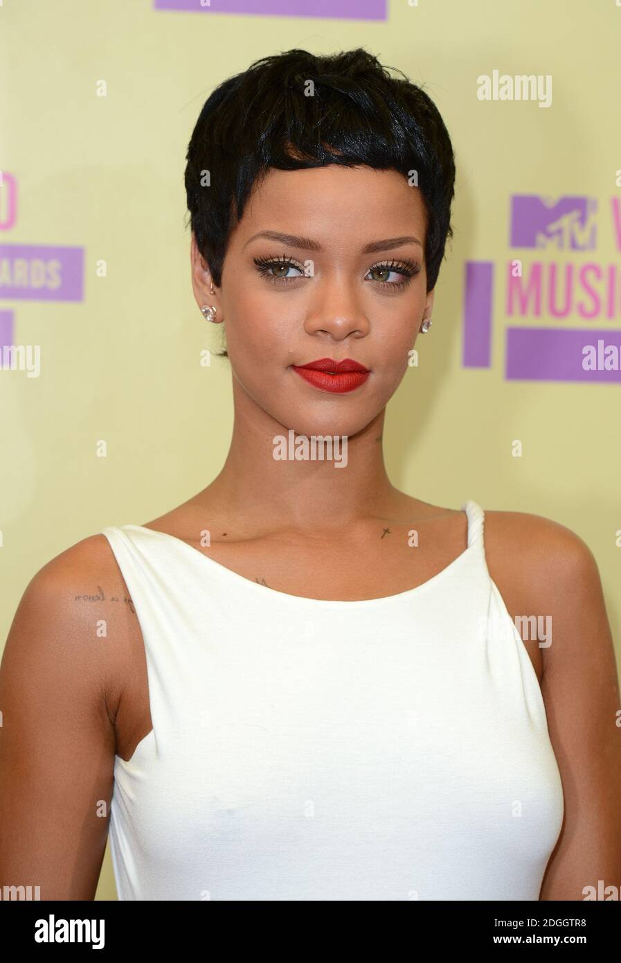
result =
M557 247L590 250L595 247L593 197L559 197L554 201L536 194L511 197L511 247Z

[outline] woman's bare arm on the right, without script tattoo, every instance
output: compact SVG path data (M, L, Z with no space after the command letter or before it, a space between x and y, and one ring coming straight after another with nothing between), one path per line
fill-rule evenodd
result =
M552 615L541 689L565 817L539 898L582 900L599 880L621 889L621 702L597 563L578 535L558 529L548 531L554 563L548 554L538 584Z

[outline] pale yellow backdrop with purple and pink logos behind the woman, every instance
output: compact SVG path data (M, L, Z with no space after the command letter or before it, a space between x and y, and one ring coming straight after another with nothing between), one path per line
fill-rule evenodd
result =
M457 166L391 478L580 534L619 653L620 44L621 0L0 0L2 637L47 560L226 455L183 186L204 100L260 57L364 46L425 86Z

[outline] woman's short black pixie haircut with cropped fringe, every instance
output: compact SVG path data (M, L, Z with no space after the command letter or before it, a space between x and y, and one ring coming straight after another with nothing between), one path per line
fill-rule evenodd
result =
M217 287L255 183L270 168L326 164L395 169L418 186L427 292L435 286L453 237L453 145L427 93L362 47L329 56L288 50L225 80L203 105L186 160L190 223Z

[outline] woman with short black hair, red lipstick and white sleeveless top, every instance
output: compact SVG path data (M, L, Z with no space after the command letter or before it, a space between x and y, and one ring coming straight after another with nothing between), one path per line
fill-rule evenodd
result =
M230 450L188 502L85 538L25 591L2 664L2 883L92 898L110 814L121 899L618 882L593 556L536 515L406 495L384 467L452 234L436 108L362 49L291 50L214 91L187 162Z

